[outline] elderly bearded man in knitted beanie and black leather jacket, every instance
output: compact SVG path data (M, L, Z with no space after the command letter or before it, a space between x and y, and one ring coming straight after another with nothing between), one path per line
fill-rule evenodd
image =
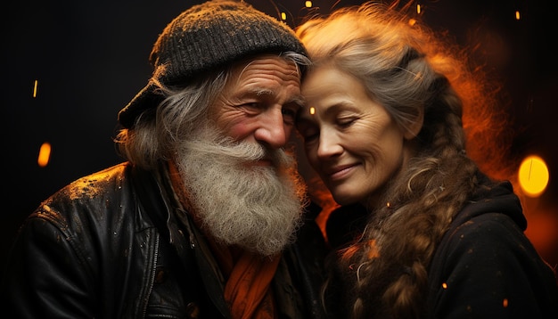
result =
M172 20L150 60L152 78L119 112L127 161L69 184L25 221L3 311L319 317L322 237L303 222L306 188L283 150L305 49L250 5L210 1Z

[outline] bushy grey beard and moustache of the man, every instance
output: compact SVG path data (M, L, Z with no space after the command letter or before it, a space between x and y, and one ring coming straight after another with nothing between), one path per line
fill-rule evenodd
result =
M201 229L219 243L275 255L296 239L307 203L295 160L259 143L215 142L205 131L176 154ZM273 166L250 163L266 154Z

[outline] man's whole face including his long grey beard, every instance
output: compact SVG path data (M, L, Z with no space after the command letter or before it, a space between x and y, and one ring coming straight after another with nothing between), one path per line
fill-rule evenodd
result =
M294 239L306 187L283 150L300 109L294 63L234 68L224 93L176 154L194 214L217 242L272 256Z

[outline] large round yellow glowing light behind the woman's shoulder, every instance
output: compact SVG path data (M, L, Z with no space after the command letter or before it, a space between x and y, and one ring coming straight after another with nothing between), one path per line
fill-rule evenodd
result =
M545 192L550 174L545 160L536 155L523 159L518 174L523 192L530 197L538 197Z

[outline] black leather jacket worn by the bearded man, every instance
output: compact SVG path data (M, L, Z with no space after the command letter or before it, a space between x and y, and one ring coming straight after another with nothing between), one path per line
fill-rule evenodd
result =
M122 163L78 179L27 218L6 266L10 318L228 318L222 277L165 178ZM282 318L320 318L324 243L313 217L273 287Z

